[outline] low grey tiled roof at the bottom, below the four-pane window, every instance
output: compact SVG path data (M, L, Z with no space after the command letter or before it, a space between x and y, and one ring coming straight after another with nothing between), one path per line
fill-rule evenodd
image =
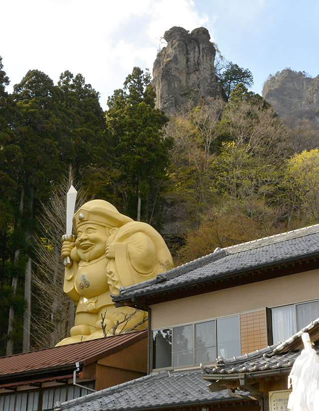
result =
M59 404L55 410L143 410L235 401L227 390L209 393L202 375L202 371L161 371Z

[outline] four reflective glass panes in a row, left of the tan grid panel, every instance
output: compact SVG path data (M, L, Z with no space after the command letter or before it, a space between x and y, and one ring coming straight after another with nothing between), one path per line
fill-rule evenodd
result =
M218 355L239 354L238 315L153 331L153 369L213 362Z

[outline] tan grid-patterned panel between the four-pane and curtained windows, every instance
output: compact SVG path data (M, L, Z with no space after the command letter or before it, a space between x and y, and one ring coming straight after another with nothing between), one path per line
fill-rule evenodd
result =
M241 354L267 346L266 310L240 314Z

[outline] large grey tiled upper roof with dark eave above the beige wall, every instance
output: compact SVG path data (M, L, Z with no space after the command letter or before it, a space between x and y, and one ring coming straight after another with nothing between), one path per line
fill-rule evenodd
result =
M282 247L278 247L278 243L282 243ZM268 251L273 253L269 258ZM257 259L256 256L260 258ZM132 305L146 309L148 305L160 300L187 296L187 290L195 293L211 291L213 289L207 288L209 284L212 287L213 284L219 284L216 289L239 285L235 281L239 276L254 276L251 279L246 278L246 282L241 280L242 283L247 283L310 271L318 268L318 258L319 224L218 250L159 274L156 278L126 288L121 287L120 294L113 295L113 299L117 306ZM236 264L232 265L232 262Z

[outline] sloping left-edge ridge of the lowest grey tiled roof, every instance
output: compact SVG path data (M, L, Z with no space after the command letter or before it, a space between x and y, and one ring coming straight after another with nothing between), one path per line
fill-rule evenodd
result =
M114 392L119 392L119 391L124 390L125 388L127 388L129 386L132 386L134 384L137 384L137 385L142 384L142 383L145 382L145 380L149 380L149 379L152 379L152 378L157 380L157 379L162 378L164 376L167 376L167 375L169 376L169 374L170 373L168 371L164 370L164 371L157 371L156 373L151 373L151 374L148 374L148 375L144 375L144 376L136 378L134 380L126 381L124 383L117 384L117 385L114 385L112 387L105 388L104 390L96 391L95 393L87 394L83 397L78 397L78 398L74 398L73 400L66 401L65 403L61 403L61 406L59 406L57 408L54 408L54 410L57 410L57 411L58 410L63 410L63 404L66 404L66 403L68 404L68 406L69 405L82 404L82 403L85 403L88 400L98 399L98 398L103 397L105 395L113 394Z

